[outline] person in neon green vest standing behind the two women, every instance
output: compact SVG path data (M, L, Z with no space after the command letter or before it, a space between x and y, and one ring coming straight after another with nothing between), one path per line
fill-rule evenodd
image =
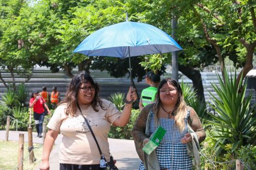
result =
M152 71L148 71L145 75L145 80L150 87L142 90L139 108L142 110L146 105L152 104L155 101L157 93L157 86L160 83L160 76L154 74Z

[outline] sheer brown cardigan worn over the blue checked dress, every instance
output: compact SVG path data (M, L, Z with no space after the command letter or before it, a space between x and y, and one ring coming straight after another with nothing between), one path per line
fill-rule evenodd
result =
M144 152L142 151L142 147L143 147L143 140L145 138L149 138L150 136L146 136L145 135L145 130L146 130L146 119L147 119L147 115L150 112L151 108L152 108L152 104L151 105L147 105L144 107L143 110L141 110L139 116L137 117L137 120L134 124L133 130L132 130L132 135L134 138L134 143L135 143L135 148L136 151L140 157L140 159L143 161L143 154ZM188 118L188 124L191 126L191 128L196 132L197 136L198 136L198 140L201 143L205 137L205 131L202 127L202 124L200 122L200 119L196 113L196 111L187 106L187 110L190 110L190 114L189 114L189 118Z

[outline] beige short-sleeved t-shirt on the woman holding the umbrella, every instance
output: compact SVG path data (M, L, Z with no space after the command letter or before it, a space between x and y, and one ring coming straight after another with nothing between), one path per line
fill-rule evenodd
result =
M87 118L106 161L110 161L108 132L111 124L121 113L113 103L107 100L102 99L102 105L105 110L98 106L99 111L95 112L92 106L89 106L87 109L82 109L82 114ZM80 111L77 110L73 117L68 116L61 122L61 119L67 117L65 114L66 106L65 104L58 106L47 125L48 128L60 131L63 135L59 162L99 164L100 154L97 144Z

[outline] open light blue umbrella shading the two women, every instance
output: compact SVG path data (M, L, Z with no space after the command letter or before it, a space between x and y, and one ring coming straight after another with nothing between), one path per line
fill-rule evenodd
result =
M130 57L182 50L162 30L146 23L125 21L104 27L84 39L74 50L87 56Z

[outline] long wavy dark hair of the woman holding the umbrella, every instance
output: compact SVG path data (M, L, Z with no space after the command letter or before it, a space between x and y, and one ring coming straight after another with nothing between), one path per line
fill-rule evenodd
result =
M98 112L99 111L98 105L100 105L100 107L104 109L102 106L102 101L98 96L99 85L93 81L92 77L89 74L81 72L80 74L77 74L72 78L70 85L68 87L68 90L65 94L65 99L61 101L59 104L59 105L67 104L66 115L71 115L71 116L75 115L77 109L79 108L78 101L77 101L79 86L81 83L88 83L88 82L90 82L91 85L95 87L95 96L93 98L93 101L91 102L93 110Z

